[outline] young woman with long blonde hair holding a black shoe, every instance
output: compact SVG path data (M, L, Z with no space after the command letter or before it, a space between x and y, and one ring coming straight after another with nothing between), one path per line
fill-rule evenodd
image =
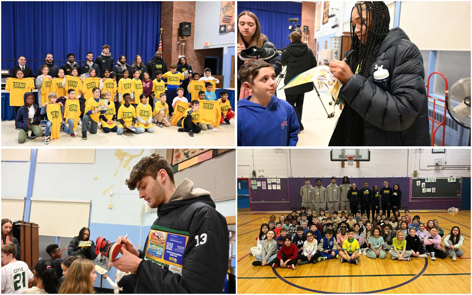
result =
M251 11L244 10L237 17L237 70L238 71L239 71L239 68L245 63L245 61L240 58L239 54L244 49L248 49L249 47L253 47L253 46L256 46L259 48L258 52L260 52L259 54L261 55L259 59L264 59L266 62L270 63L275 69L275 76L278 76L278 74L280 74L280 72L282 71L282 64L280 62L280 57L278 56L278 53L277 53L277 48L275 47L273 43L269 42L269 39L264 34L261 34L261 25L259 24L259 19L257 19L256 15L253 14ZM271 52L272 56L268 52ZM271 56L271 57L266 59L264 58L265 55ZM247 91L246 92L244 91L244 88L241 89L241 81L239 80L237 81L237 89L240 90L238 100L244 99L247 96L249 96L249 94L247 94ZM277 93L275 95L277 95Z

